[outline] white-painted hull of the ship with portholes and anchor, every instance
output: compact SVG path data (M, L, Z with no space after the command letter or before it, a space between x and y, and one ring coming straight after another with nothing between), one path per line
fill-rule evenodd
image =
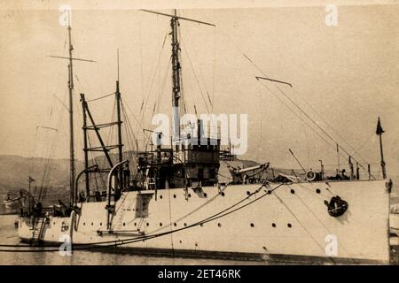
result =
M141 204L137 203L140 193L124 193L115 205L113 233L98 233L106 231L105 202L82 203L79 204L82 205L81 214L76 218L74 215L71 218L50 217L49 225L43 231L43 241L63 241L60 240L63 234L72 236L74 244L127 240L139 237L138 229L145 236L166 234L126 243L119 246L120 250L136 249L165 255L174 250L177 254L190 256L241 255L263 259L282 256L349 264L389 263L389 192L386 180L282 185L265 196L262 196L265 194L262 188L239 203L248 192L253 193L260 186L227 186L223 195L218 187L203 187L202 193L190 188L188 200L183 188L158 190L157 199L153 195L148 203L146 218L137 218L137 214L142 212L139 211ZM142 192L151 193L153 191ZM348 202L348 210L338 218L327 213L324 203L330 201L332 195L340 195ZM239 205L233 209L259 197L262 198L222 218L169 233L214 216L235 203ZM20 219L19 235L22 240L32 237L27 219ZM337 253L329 249L333 247L328 242L332 237L337 239Z

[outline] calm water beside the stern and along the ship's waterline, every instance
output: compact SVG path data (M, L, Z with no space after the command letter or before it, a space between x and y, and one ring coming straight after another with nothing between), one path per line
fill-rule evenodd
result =
M0 244L19 244L17 230L14 228L16 215L0 215ZM1 248L0 249L4 249ZM76 250L72 256L60 256L58 252L0 252L0 264L4 265L202 265L202 264L267 264L265 262L242 262L226 260L171 258L153 256L133 256L98 251Z

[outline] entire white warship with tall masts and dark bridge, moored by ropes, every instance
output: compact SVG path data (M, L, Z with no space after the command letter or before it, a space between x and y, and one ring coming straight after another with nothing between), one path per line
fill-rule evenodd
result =
M179 109L181 54L180 21L174 13L149 11L170 18L172 107ZM51 249L68 242L71 249L111 249L115 252L161 256L192 256L306 263L389 263L389 195L382 157L382 178L365 178L348 157L345 171L305 170L273 172L265 162L241 168L231 149L223 149L220 134L204 134L204 121L186 134L174 112L177 138L163 145L162 133L153 131L152 149L129 151L124 144L123 103L119 78L113 93L116 120L95 123L90 102L81 94L84 169L75 172L74 74L71 26L68 26L70 203L43 207L42 199L24 195L18 234L21 241ZM257 77L258 80L271 80ZM284 83L272 80L272 83ZM117 141L106 144L100 129L116 128ZM99 146L92 146L92 133ZM380 122L377 134L383 133ZM337 145L337 149L339 146ZM111 151L116 151L114 154ZM102 152L106 166L90 159ZM132 153L133 152L133 153ZM293 152L292 152L293 153ZM236 163L235 163L236 162ZM230 181L221 181L228 164ZM367 172L367 169L365 169ZM265 174L266 173L266 174ZM106 176L96 186L94 176ZM267 177L264 177L264 176ZM81 186L79 186L81 184ZM83 186L84 184L84 186ZM40 195L40 194L39 194Z

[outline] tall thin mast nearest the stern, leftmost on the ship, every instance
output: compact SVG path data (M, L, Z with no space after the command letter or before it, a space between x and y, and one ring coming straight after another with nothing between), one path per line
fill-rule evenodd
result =
M68 13L68 43L69 43L69 80L68 80L68 88L69 88L69 154L70 154L70 193L71 193L71 205L74 204L74 68L73 68L73 57L72 50L74 47L72 46L71 40L71 15Z

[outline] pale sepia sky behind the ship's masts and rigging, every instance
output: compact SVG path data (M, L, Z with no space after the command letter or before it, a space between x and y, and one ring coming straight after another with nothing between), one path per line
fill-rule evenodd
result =
M1 2L0 154L34 157L52 152L52 157L68 157L66 61L49 57L67 56L59 4L72 7L74 56L96 61L74 64L77 158L82 158L79 94L92 99L113 93L116 50L122 99L133 131L140 135L141 127L154 127L154 108L155 113L170 114L169 19L137 8L170 13L177 7L182 17L216 25L180 21L188 111L193 112L195 104L199 113L247 114L248 150L242 158L297 168L288 150L292 149L306 168L317 167L319 159L335 168L335 143L309 122L308 115L356 160L378 170L375 128L380 117L386 131L387 172L399 175L395 1L337 1L336 27L325 24L329 12L320 1L283 1L282 6L237 1L229 7L219 1L213 6L208 1L200 6L198 1L186 6L173 1L88 3ZM243 3L246 8L239 8ZM264 74L293 88L254 79ZM90 108L97 123L112 119L112 98L90 103ZM36 126L57 128L58 134ZM340 162L347 160L340 157Z

